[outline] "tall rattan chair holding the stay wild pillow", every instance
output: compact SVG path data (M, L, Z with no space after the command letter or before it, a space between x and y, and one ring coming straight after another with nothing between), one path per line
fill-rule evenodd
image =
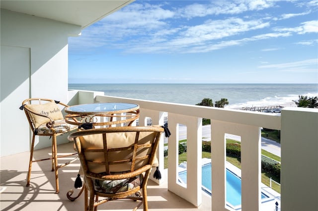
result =
M26 117L28 119L30 128L32 130L32 134L33 134L26 186L27 187L30 186L32 162L52 159L52 171L55 171L55 183L56 183L55 193L60 192L59 175L58 175L59 168L65 165L68 165L77 159L77 158L74 158L73 160L68 161L67 163L63 163L61 165L58 164L58 158L73 156L73 155L76 155L77 153L71 153L69 155L58 156L56 137L78 128L75 125L70 125L65 122L59 105L63 107L68 106L66 104L60 103L58 101L50 100L50 99L30 98L23 101L22 106L20 107L21 110L24 109L24 112L26 114ZM34 141L35 141L36 135L52 137L52 157L33 160Z

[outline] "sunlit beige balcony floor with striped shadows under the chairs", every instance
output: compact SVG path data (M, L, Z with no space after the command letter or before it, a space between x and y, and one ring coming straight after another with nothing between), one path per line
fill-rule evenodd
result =
M49 141L49 140L48 140ZM73 143L58 146L58 154L73 152ZM1 211L81 211L84 209L82 194L71 202L66 194L74 189L78 174L79 160L59 169L60 193L55 194L55 175L51 171L51 160L34 162L30 186L25 187L28 170L29 152L1 157L0 166L0 210ZM36 150L34 158L51 155L51 148ZM70 158L59 158L59 164ZM166 173L166 172L165 172ZM72 197L79 193L75 190ZM202 192L202 205L196 208L187 201L167 190L167 182L161 185L148 183L148 206L150 211L211 211L211 197ZM123 202L124 201L124 202ZM98 210L129 211L138 202L121 200L98 206ZM142 210L142 206L138 209Z

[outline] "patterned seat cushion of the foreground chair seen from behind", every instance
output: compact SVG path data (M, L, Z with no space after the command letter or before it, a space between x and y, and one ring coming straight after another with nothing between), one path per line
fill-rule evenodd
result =
M120 180L99 180L93 179L94 189L101 193L120 193L131 190L141 185L143 175L138 175L133 178Z

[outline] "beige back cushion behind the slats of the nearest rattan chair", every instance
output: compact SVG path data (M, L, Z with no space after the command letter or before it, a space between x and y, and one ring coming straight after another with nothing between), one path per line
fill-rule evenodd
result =
M112 149L112 148L132 146L135 142L135 136L136 136L136 132L108 133L107 148ZM154 140L153 138L154 136L156 136L156 133L140 132L139 144L150 143L150 140ZM102 134L82 136L82 137L79 137L79 140L81 143L81 150L82 149L103 149ZM132 153L133 153L133 149L125 150L125 151L109 152L109 158L110 158L109 161L131 158ZM86 152L84 154L87 160L89 171L94 173L100 173L105 171L104 165L94 163L94 162L104 161L103 153ZM151 148L141 148L137 151L137 157L142 157L142 156L150 155L150 154L151 154ZM149 161L148 159L137 161L135 164L135 169L138 169L139 167L145 165L146 163L148 163L148 161ZM109 166L109 169L110 169L110 172L123 172L123 171L129 171L130 167L131 167L131 162L126 162L126 163L121 163L116 165L112 164Z

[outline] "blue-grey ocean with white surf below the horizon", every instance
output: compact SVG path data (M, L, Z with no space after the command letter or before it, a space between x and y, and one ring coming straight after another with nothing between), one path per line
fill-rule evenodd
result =
M227 108L288 105L299 95L318 96L318 84L69 84L69 89L106 96L195 105L228 99ZM291 104L292 106L292 104Z

